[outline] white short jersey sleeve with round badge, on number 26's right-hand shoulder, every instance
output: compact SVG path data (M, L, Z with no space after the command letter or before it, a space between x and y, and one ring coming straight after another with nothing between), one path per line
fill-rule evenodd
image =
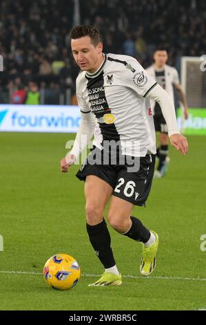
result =
M125 66L125 86L133 89L138 95L146 97L156 86L156 80L145 71L136 59Z

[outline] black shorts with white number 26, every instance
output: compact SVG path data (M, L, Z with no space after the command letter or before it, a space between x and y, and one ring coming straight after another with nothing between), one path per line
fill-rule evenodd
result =
M101 155L101 163L90 163L90 155ZM76 174L80 180L85 180L87 176L97 176L114 189L113 194L134 205L145 205L154 175L155 155L147 154L145 157L124 157L121 163L117 159L116 164L103 163L103 150L96 147L92 149L90 155L85 160ZM133 161L133 165L132 165ZM135 167L135 171L133 171ZM138 168L136 168L138 167ZM132 169L131 169L132 168Z

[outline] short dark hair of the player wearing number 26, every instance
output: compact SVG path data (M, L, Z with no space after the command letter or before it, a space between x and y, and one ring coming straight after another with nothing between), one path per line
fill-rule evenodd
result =
M80 37L89 36L91 43L96 46L100 43L99 29L89 25L74 26L70 32L70 39L78 39Z

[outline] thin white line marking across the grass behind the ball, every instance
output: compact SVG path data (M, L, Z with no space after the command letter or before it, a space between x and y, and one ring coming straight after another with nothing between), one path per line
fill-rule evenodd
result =
M1 274L10 274L10 275L43 275L40 272L27 272L27 271L6 271L0 270ZM100 277L100 275L92 275L90 273L83 273L82 277ZM205 278L198 277L138 277L136 275L123 275L125 279L160 279L160 280L183 280L183 281L206 281Z

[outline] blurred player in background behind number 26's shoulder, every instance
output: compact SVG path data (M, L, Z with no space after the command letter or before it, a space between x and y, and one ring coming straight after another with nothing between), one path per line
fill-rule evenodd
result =
M187 101L185 97L185 93L182 89L182 86L179 81L178 72L176 71L176 68L172 66L168 66L166 64L168 59L167 51L160 48L154 52L154 64L152 66L149 66L146 71L154 79L158 84L160 84L165 91L167 91L170 99L174 103L174 89L176 88L178 91L178 97L179 100L183 104L184 108L184 117L185 120L188 118L188 112L187 112ZM155 178L161 178L165 176L167 172L167 167L169 165L169 157L168 155L168 144L169 144L169 138L168 138L168 129L167 129L167 123L165 121L165 118L163 116L163 112L161 111L161 107L158 104L158 102L155 102L154 100L151 100L152 105L152 112L154 113L154 127L157 132L160 132L160 147L156 150L156 156L158 157L158 167L156 171L154 171L154 177Z

